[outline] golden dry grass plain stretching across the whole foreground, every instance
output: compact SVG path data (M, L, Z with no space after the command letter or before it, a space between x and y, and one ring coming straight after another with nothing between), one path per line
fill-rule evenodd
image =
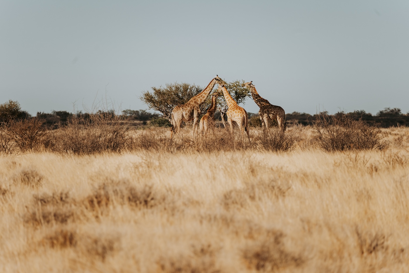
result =
M409 272L406 127L334 151L310 126L95 153L72 130L0 156L0 272Z

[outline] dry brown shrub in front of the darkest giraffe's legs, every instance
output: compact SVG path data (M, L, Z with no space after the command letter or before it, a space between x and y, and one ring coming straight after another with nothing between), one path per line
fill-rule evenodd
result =
M278 127L265 129L253 139L260 143L258 149L261 151L292 151L295 140L294 132L283 132Z

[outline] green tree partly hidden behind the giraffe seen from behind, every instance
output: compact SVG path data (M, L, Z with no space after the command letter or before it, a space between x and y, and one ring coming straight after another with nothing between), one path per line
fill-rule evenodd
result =
M251 97L250 90L243 87L243 84L244 84L243 80L231 81L226 84L227 92L229 92L230 96L237 102L237 104L243 104L248 97ZM225 115L228 109L229 108L227 107L225 97L219 96L217 110L220 111L220 116L222 118L222 122L225 128L226 128Z

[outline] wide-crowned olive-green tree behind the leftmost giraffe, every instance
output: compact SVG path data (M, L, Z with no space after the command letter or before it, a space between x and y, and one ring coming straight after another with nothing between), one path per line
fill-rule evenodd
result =
M189 83L166 83L165 87L152 87L153 92L145 91L139 99L162 116L171 121L175 106L187 103L189 99L202 92L203 88Z

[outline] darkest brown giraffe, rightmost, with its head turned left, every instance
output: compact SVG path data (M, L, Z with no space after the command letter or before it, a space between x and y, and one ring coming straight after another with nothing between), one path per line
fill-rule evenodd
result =
M246 82L243 86L250 90L252 93L252 97L254 102L260 107L258 111L258 115L260 116L261 126L263 129L268 129L268 122L269 120L277 119L279 124L279 128L283 131L287 128L287 124L285 123L285 111L282 107L272 105L268 102L267 99L263 99L258 95L256 91L256 87L252 84L253 81Z

